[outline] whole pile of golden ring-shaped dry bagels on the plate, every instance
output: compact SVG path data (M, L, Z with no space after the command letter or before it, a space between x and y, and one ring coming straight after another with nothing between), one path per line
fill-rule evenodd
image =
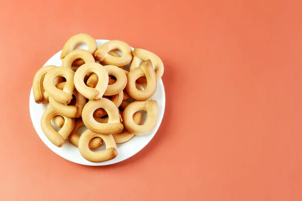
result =
M83 43L87 50L75 49ZM61 147L68 138L85 159L103 162L118 155L117 143L156 127L158 103L149 98L164 73L156 54L138 48L132 51L118 40L98 48L92 36L77 34L67 40L60 58L61 66L44 66L33 80L35 102L48 104L41 128L54 145ZM139 111L147 113L143 125ZM60 128L58 132L51 121ZM80 136L82 126L87 130ZM91 151L103 146L103 141L105 150Z

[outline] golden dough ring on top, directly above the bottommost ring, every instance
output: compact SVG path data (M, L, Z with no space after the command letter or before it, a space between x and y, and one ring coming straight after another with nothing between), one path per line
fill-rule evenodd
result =
M108 113L108 123L99 123L94 119L93 113L99 108L103 108ZM117 107L111 100L106 98L102 98L100 100L90 100L83 109L82 119L85 126L95 133L119 133L124 128L124 126L120 123L120 115Z

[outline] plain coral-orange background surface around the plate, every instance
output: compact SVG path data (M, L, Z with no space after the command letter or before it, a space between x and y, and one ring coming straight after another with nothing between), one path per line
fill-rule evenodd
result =
M0 200L302 200L300 1L6 1ZM139 153L71 163L36 134L35 72L77 33L158 54L166 111Z

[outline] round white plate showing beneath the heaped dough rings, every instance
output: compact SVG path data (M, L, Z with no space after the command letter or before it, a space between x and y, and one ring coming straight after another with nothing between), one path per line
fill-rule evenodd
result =
M97 40L98 47L100 47L102 44L106 43L108 40ZM87 49L86 45L81 45L77 48L83 48ZM133 50L133 48L132 48ZM60 59L60 54L61 51L56 53L53 57L51 57L45 64L46 65L55 65L55 66L61 66L62 62ZM143 135L143 136L134 136L131 140L128 142L122 143L122 144L117 144L117 151L118 155L116 158L113 160L109 160L106 162L101 162L101 163L93 163L85 158L83 158L79 152L78 147L75 147L72 145L68 139L66 140L65 144L59 148L53 145L48 138L44 135L41 125L40 125L40 119L42 117L43 112L46 109L46 106L43 104L36 104L34 100L34 95L33 95L33 89L31 89L30 92L30 99L29 99L29 110L30 110L30 116L33 122L33 125L35 127L36 132L38 133L39 137L41 140L56 154L59 156L74 162L74 163L79 163L83 165L92 165L92 166L100 166L100 165L110 165L114 163L118 163L120 161L126 160L127 158L133 156L137 152L139 152L144 146L146 146L150 140L154 137L156 134L157 130L159 129L161 122L163 120L164 116L164 111L165 111L165 104L166 104L166 98L165 98L165 89L164 89L164 84L162 79L158 81L158 86L157 86L157 91L151 97L150 99L157 100L159 104L159 121L152 133ZM145 116L145 115L144 115ZM146 117L144 117L145 119ZM143 120L144 121L144 120ZM59 128L55 128L58 130ZM79 129L81 132L81 129ZM83 129L82 129L83 132ZM102 146L99 148L97 151L104 150L105 146Z

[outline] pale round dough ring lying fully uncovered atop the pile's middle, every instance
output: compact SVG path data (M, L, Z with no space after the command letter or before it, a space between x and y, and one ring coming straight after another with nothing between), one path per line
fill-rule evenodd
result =
M85 75L96 73L99 77L98 84L91 88L84 83ZM108 85L109 75L107 70L99 63L85 63L74 74L74 85L77 90L88 99L101 99ZM100 81L101 80L101 81Z

